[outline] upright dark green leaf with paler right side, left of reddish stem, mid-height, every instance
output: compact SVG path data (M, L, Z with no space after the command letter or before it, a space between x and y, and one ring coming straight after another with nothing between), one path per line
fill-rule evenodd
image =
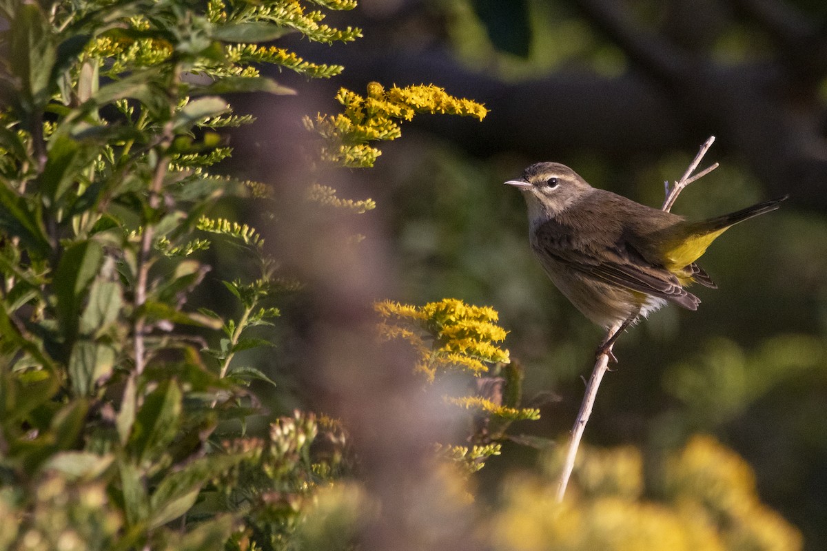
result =
M69 345L78 335L84 293L98 273L102 260L101 245L94 240L85 240L66 249L55 270L52 284L57 297L58 318Z

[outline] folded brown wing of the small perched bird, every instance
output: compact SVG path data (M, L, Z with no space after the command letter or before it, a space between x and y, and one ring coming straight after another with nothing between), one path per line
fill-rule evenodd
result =
M557 221L535 230L534 246L558 263L605 283L643 292L697 310L700 299L681 287L678 278L654 264L621 235L595 230L576 233Z

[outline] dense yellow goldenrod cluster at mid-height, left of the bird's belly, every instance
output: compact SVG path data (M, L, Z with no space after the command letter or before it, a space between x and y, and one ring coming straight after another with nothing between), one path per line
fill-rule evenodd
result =
M469 306L454 298L411 306L377 302L375 310L385 318L380 333L386 339L408 340L418 351L417 370L433 381L439 369L464 368L485 373L485 363L508 363L509 351L495 343L506 331L496 325L497 312L487 306Z

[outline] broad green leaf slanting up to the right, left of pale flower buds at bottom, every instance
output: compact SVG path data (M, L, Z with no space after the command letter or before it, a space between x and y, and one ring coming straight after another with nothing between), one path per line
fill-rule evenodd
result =
M184 515L195 503L204 484L226 472L243 457L242 454L208 455L165 477L150 498L150 528L165 525Z

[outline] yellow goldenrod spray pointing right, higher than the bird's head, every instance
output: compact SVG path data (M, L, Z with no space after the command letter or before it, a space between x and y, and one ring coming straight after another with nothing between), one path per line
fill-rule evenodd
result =
M305 117L304 126L322 137L323 159L351 168L373 166L381 154L368 142L395 140L402 135L394 120L410 121L416 113L474 116L482 120L487 114L480 103L453 97L431 84L385 90L380 83L370 83L366 97L342 88L336 98L345 108L343 113L318 115L315 119Z

